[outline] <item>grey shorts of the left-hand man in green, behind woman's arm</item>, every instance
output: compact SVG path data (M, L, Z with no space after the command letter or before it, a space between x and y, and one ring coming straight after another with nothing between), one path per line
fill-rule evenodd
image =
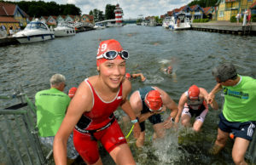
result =
M53 149L53 142L55 140L54 136L49 137L40 137L40 141L43 145L48 147L49 149ZM74 145L73 145L73 134L70 134L68 140L67 140L67 157L69 159L75 159L79 156L79 152L76 151Z

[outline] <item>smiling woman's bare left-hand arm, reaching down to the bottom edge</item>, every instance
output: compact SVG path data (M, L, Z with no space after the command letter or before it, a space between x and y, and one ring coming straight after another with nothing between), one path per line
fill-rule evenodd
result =
M56 165L67 163L67 139L84 111L91 110L92 102L89 86L85 82L81 83L67 108L67 114L61 123L61 127L55 134L53 150Z

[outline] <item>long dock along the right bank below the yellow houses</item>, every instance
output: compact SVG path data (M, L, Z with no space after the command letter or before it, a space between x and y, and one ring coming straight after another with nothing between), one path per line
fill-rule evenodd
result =
M192 29L195 31L210 31L219 33L229 33L238 35L256 35L256 22L248 26L242 26L230 21L210 21L207 23L192 23Z

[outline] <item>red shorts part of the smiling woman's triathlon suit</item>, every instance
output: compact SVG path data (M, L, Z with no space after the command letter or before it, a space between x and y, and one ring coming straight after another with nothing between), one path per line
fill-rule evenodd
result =
M73 129L73 144L84 161L90 164L96 163L100 157L97 140L101 141L108 153L115 147L127 143L116 120L108 128L94 133L93 136L95 139L91 138L90 133L84 134Z

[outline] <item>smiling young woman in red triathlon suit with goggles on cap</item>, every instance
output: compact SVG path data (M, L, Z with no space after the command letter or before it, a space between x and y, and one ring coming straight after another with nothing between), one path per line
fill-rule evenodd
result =
M135 138L140 126L127 100L131 83L125 77L125 60L129 54L114 39L100 43L96 55L98 75L80 83L66 117L55 136L55 164L66 164L67 137L73 131L73 143L84 162L102 164L98 141L116 164L136 164L119 123L113 115L120 106L134 124Z

